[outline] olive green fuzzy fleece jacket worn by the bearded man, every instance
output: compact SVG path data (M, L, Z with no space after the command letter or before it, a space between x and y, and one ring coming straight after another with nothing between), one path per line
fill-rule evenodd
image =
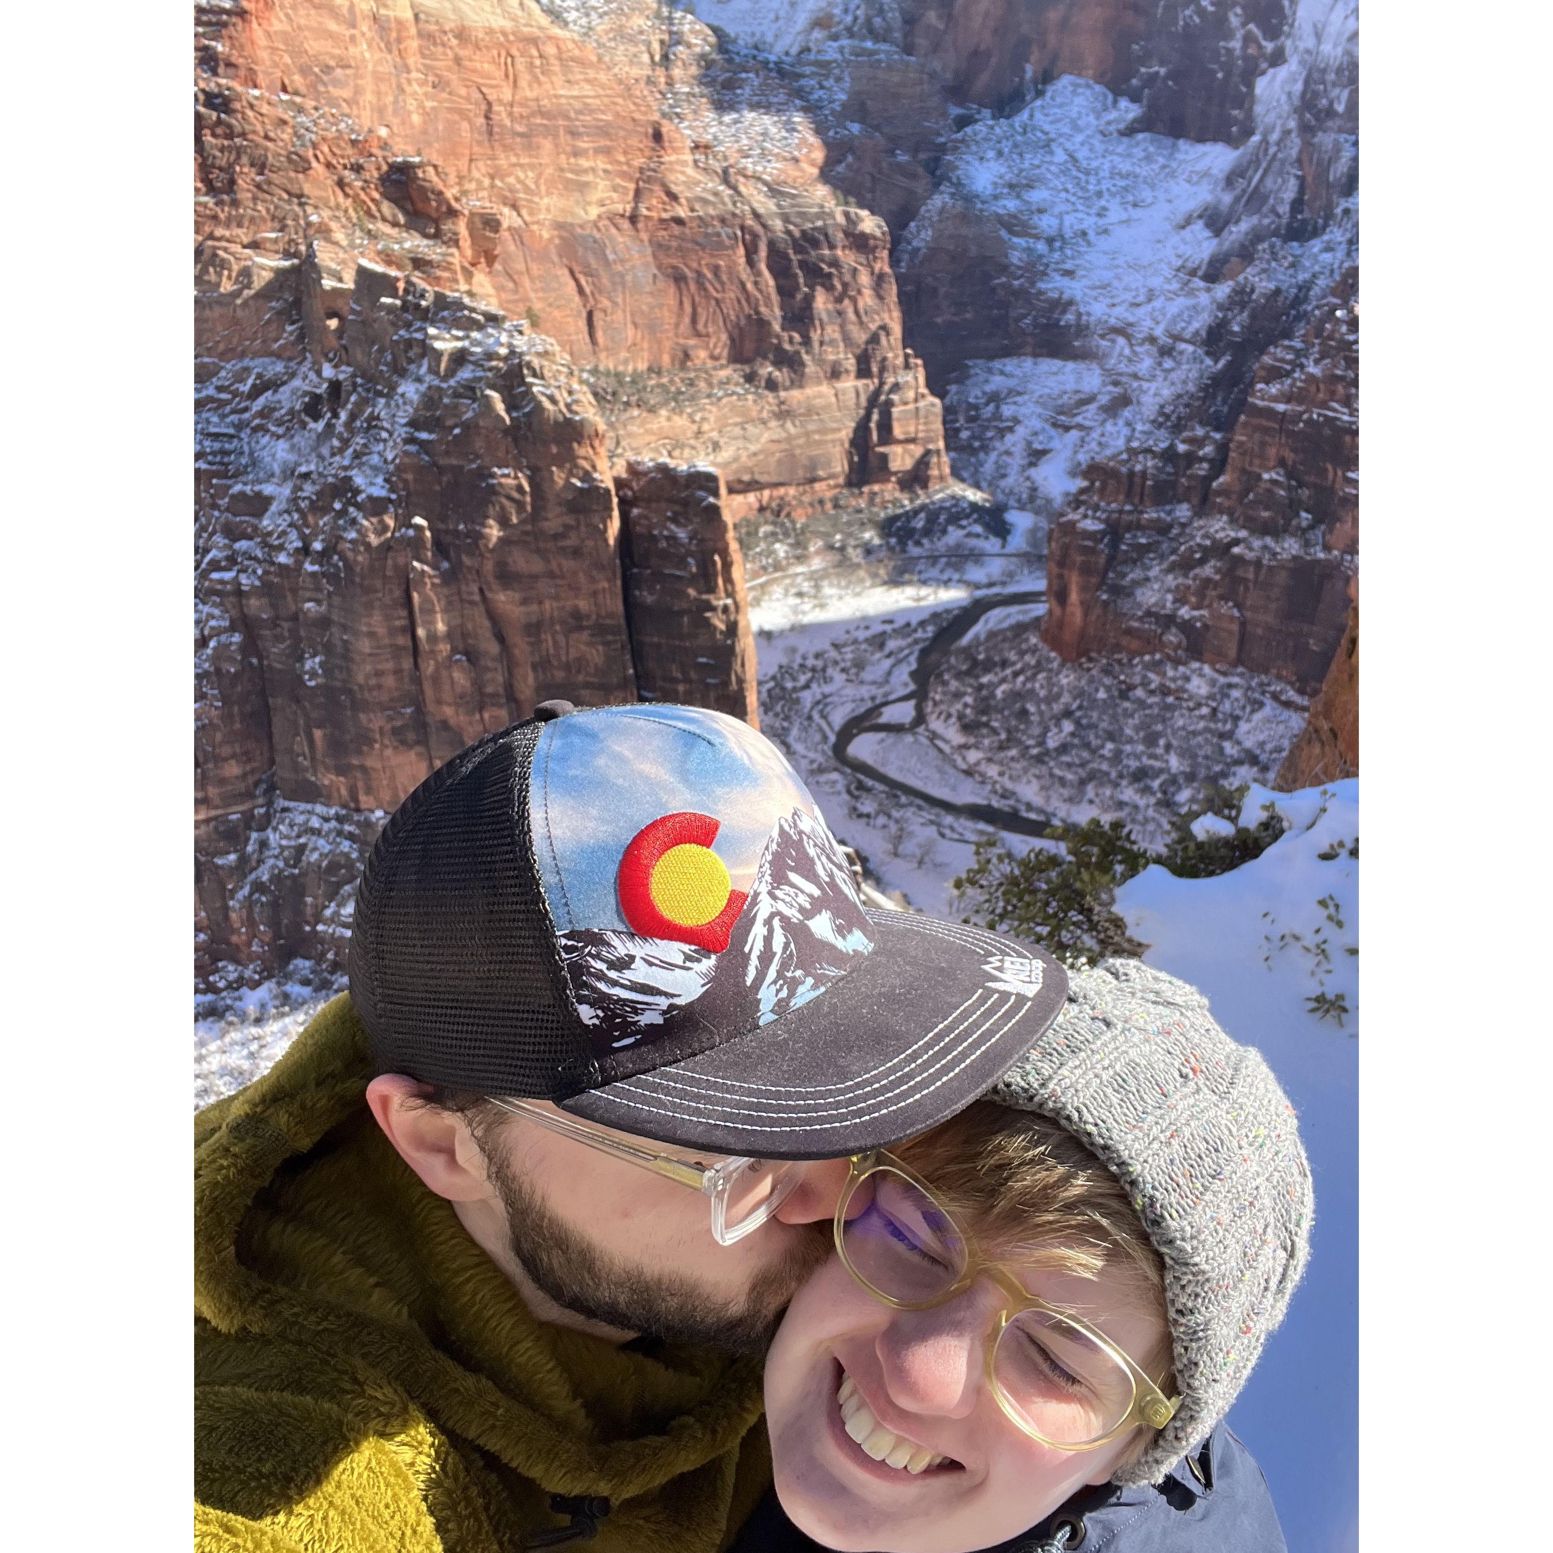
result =
M759 1365L534 1318L388 1145L348 997L196 1118L196 1547L717 1553L770 1483Z

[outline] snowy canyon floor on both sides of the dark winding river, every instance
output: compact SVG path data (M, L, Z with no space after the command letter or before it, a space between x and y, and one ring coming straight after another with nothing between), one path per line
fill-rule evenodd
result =
M1044 587L1039 565L1020 579ZM907 721L910 669L958 598L870 584L843 615L843 579L829 575L817 618L769 601L786 629L756 637L761 727L798 767L836 834L888 890L924 912L958 915L950 881L992 828L944 814L848 770L834 741L848 717L896 700L881 721ZM910 733L863 733L851 755L955 803L992 803L1033 820L1120 817L1160 845L1169 818L1205 781L1269 781L1305 722L1303 697L1267 676L1163 658L1064 663L1039 638L1044 606L997 609L933 677L926 721ZM1022 849L1014 832L1002 840Z

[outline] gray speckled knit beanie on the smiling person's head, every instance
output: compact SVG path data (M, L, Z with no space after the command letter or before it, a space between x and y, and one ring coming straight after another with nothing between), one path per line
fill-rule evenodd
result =
M1126 1186L1165 1264L1180 1407L1123 1483L1157 1483L1228 1412L1311 1249L1311 1166L1261 1053L1140 960L1068 974L1068 1000L986 1096L1037 1110Z

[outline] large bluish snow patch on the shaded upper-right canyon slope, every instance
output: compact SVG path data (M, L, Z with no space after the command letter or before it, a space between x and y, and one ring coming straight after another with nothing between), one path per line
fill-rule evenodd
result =
M955 472L1054 511L1086 463L1148 443L1200 393L1218 307L1197 276L1214 235L1200 211L1228 146L1129 135L1137 107L1064 76L1013 118L955 138L940 188L901 238L910 269L946 211L995 217L1033 314L1059 320L1084 359L972 362L944 396Z

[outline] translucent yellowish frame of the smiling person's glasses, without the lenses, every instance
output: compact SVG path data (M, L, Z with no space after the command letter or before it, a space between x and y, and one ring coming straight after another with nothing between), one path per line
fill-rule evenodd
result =
M1180 1398L1166 1398L1165 1393L1154 1384L1154 1379L1137 1364L1132 1362L1131 1356L1118 1348L1104 1332L1090 1326L1089 1322L1072 1311L1064 1311L1059 1306L1048 1305L1045 1300L1037 1298L1030 1294L1014 1277L1013 1270L1006 1263L1000 1263L994 1258L985 1256L975 1246L972 1236L969 1236L958 1219L940 1202L933 1188L922 1180L921 1176L912 1169L904 1160L896 1159L885 1149L874 1149L870 1154L854 1154L848 1160L849 1169L846 1176L846 1185L842 1188L842 1194L836 1202L836 1218L832 1221L836 1235L836 1255L840 1258L842 1266L848 1273L881 1305L887 1305L895 1311L930 1311L940 1305L947 1305L950 1300L958 1298L971 1287L978 1278L989 1278L1003 1295L1003 1305L999 1309L988 1334L983 1339L981 1348L986 1365L986 1381L988 1388L997 1399L997 1405L1008 1416L1008 1421L1014 1424L1022 1433L1030 1435L1031 1440L1039 1440L1044 1446L1051 1446L1054 1451L1098 1451L1101 1446L1110 1444L1110 1441L1121 1438L1129 1429L1137 1423L1146 1424L1149 1429L1163 1429L1171 1418L1176 1416L1176 1410L1180 1407ZM877 1171L895 1171L898 1176L904 1176L918 1191L921 1191L927 1200L933 1205L935 1211L941 1213L946 1224L960 1238L960 1244L964 1247L966 1266L961 1269L960 1275L952 1284L949 1284L943 1292L933 1295L930 1300L898 1300L890 1294L870 1283L854 1266L851 1258L846 1255L846 1210L851 1207L853 1197L857 1194L857 1188ZM1082 1443L1051 1440L1050 1437L1041 1433L1027 1419L1019 1415L1019 1409L1014 1401L1005 1393L1002 1381L997 1378L995 1356L997 1345L1002 1340L1003 1331L1008 1325L1023 1315L1027 1311L1039 1311L1045 1315L1056 1317L1061 1322L1067 1322L1078 1328L1087 1339L1098 1343L1112 1359L1115 1359L1132 1381L1132 1404L1127 1409L1121 1421L1109 1429L1104 1435L1095 1440L1086 1440Z

